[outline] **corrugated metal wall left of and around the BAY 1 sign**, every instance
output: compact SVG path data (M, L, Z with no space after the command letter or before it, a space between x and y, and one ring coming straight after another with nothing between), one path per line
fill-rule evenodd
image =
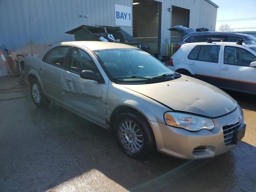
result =
M29 16L36 44L72 41L74 36L64 32L82 24L115 26L114 4L132 8L132 0L0 0L0 44L14 50L26 44ZM132 34L132 27L121 28Z

